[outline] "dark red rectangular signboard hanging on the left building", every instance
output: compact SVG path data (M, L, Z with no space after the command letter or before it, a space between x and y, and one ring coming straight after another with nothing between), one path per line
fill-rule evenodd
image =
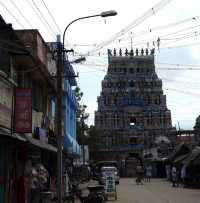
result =
M32 91L30 88L15 90L15 132L32 133Z

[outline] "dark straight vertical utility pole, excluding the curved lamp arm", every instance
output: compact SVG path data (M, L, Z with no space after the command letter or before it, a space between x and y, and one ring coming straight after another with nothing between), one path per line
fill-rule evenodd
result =
M57 136L57 196L62 203L62 73L63 51L60 35L57 36L57 103L56 103L56 136Z

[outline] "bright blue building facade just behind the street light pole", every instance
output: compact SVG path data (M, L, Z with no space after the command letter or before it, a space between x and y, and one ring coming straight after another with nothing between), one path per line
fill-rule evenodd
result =
M48 46L52 52L56 52L57 43L49 42ZM53 75L54 71L52 71ZM63 71L63 98L62 98L62 127L63 127L63 149L73 158L80 156L80 146L76 140L76 112L77 101L73 87L77 85L73 66L66 58L64 59ZM56 98L54 97L54 100ZM54 108L55 109L55 108Z

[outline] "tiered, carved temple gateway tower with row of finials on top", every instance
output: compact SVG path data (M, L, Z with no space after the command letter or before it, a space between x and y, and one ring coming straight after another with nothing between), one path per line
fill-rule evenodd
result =
M139 153L172 129L162 80L155 71L154 50L134 53L126 49L125 54L121 49L119 54L108 50L108 70L97 102L95 127L101 131L100 150L105 152L105 157L96 153L99 159Z

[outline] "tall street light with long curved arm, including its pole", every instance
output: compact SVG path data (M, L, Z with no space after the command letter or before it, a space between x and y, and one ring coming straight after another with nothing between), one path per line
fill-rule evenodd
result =
M65 34L67 29L71 24L78 20L83 20L86 18L94 18L94 17L110 17L117 15L117 12L114 10L104 11L97 15L90 15L77 18L71 21L65 28L63 33L62 44L58 43L58 61L57 61L57 145L58 145L58 181L57 181L57 195L58 195L58 203L62 203L62 73L65 65Z

